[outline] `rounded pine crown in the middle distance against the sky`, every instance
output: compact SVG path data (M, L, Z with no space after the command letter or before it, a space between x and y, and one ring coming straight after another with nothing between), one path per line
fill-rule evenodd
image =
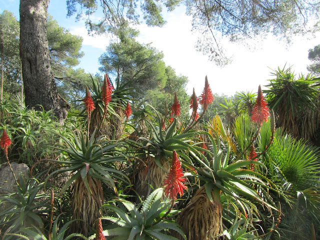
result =
M113 75L117 79L115 84L129 82L129 87L143 95L148 89L164 87L165 63L162 52L135 39L137 33L132 28L119 30L116 40L99 57L99 70Z

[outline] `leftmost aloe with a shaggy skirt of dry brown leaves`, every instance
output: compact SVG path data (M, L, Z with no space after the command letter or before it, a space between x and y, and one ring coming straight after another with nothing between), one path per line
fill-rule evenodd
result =
M74 172L61 189L63 193L72 186L73 218L82 219L76 222L76 230L87 235L96 218L100 216L99 208L103 203L101 183L110 187L117 194L115 179L128 183L127 177L116 168L114 162L123 162L125 155L117 149L117 142L105 140L102 136L90 138L82 131L74 131L71 138L55 133L62 143L51 146L62 154L59 160L51 160L63 167L49 174L47 178L62 173ZM65 157L65 159L63 159Z

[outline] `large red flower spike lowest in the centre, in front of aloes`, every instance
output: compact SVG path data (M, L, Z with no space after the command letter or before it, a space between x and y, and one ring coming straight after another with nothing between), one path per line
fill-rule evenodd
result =
M185 178L182 178L182 176L183 172L181 162L179 161L176 151L174 150L169 173L163 181L163 190L165 196L169 196L172 200L175 200L177 193L179 193L180 196L183 194L183 190L186 190L187 188L183 183Z

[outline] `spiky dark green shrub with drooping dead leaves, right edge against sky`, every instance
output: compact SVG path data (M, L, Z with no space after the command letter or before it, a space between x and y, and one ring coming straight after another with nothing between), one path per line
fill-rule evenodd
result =
M318 91L314 77L302 74L295 79L290 68L278 68L274 79L266 85L266 99L277 115L277 126L282 126L294 137L310 140L318 126Z

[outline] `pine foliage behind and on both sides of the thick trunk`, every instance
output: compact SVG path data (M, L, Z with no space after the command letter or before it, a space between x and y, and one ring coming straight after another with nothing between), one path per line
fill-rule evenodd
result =
M3 92L16 94L20 91L21 66L19 56L19 22L12 12L4 10L0 14L0 30L3 42ZM85 85L89 85L89 74L84 69L73 69L83 56L82 37L71 34L48 16L47 40L50 65L58 83L58 92L67 100L83 95Z

